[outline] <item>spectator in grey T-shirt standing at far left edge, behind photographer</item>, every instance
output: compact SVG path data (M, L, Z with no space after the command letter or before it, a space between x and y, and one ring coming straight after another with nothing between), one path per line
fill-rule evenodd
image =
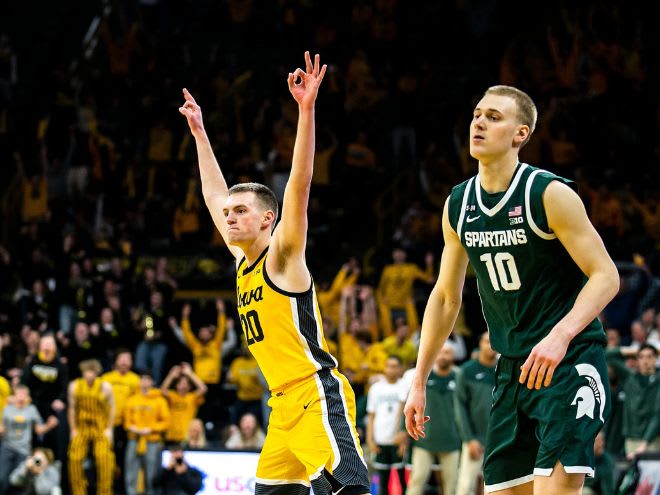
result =
M14 388L14 400L2 414L0 446L0 493L6 493L12 471L30 455L32 431L43 435L57 426L50 416L44 424L37 408L30 404L30 390L25 385Z

